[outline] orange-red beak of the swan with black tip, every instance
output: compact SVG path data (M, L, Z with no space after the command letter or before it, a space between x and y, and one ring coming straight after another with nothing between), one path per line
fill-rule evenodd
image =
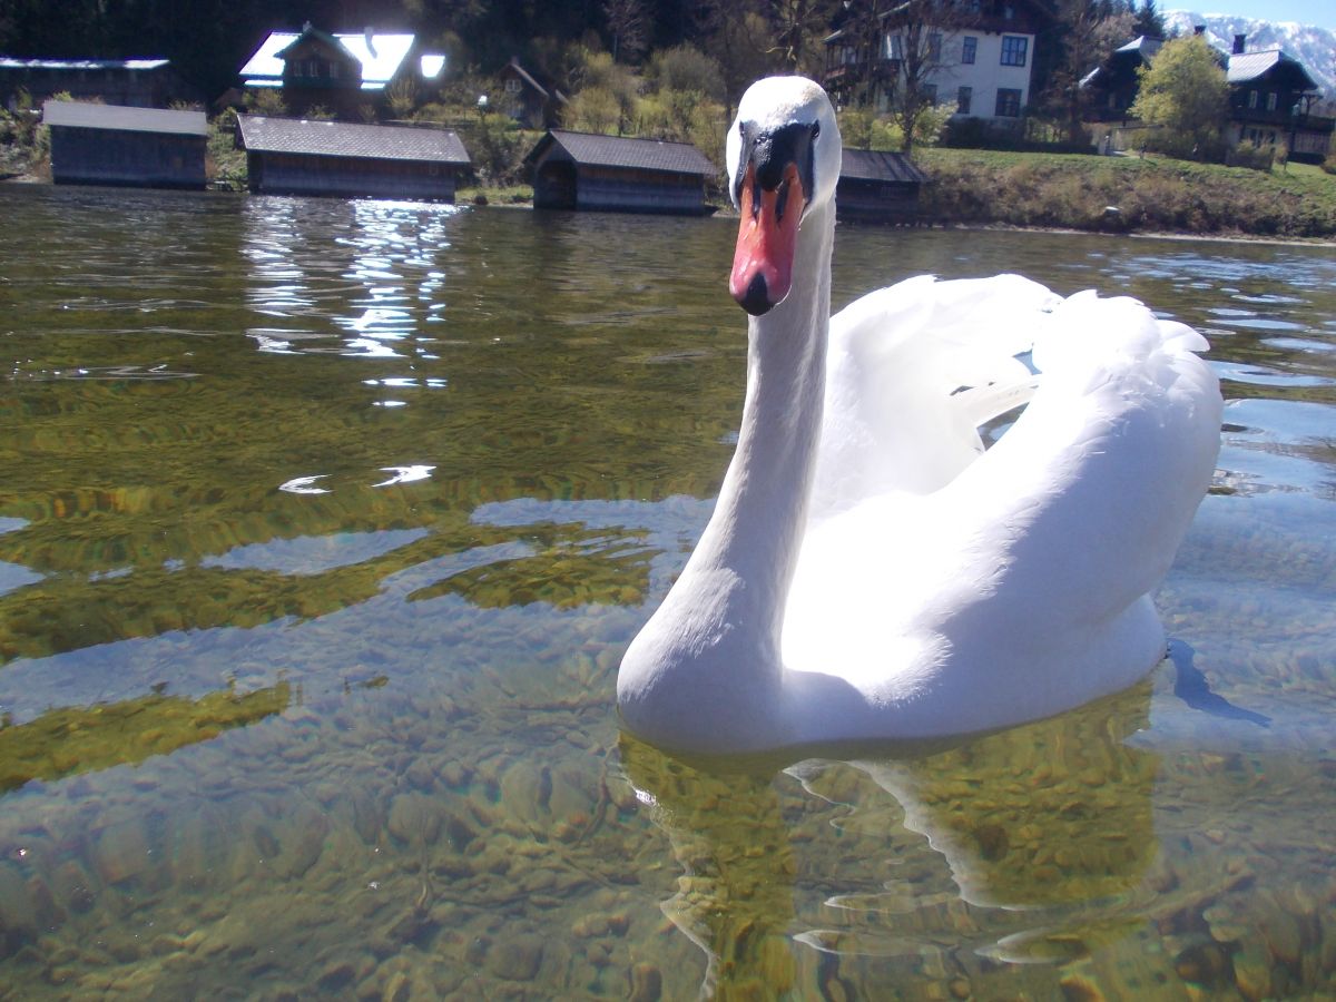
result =
M770 191L756 183L756 166L748 164L740 187L743 219L728 291L747 313L760 317L788 295L806 195L792 163L784 167L779 186Z

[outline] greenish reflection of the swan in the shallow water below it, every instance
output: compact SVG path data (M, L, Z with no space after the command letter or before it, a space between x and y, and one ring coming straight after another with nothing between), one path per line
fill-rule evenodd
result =
M995 962L1047 962L1035 989L1057 990L1051 962L1145 921L1158 756L1125 739L1150 689L954 747L796 763L676 759L623 735L625 779L683 870L661 908L707 955L703 994L852 997L888 975L978 991Z

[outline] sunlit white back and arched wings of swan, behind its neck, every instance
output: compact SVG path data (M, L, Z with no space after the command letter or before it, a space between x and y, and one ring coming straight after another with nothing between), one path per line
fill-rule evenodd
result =
M876 343L878 318L899 323L915 309L937 326ZM1164 644L1148 596L1218 450L1218 382L1193 354L1205 339L1132 299L1062 301L1014 277L914 279L846 314L786 667L894 705L906 735L1001 727L1140 677ZM1037 379L1015 359L1027 349ZM891 375L858 370L878 353ZM927 421L895 398L864 399L878 379ZM981 454L970 422L1031 393ZM875 464L875 436L896 422L888 453L922 457L921 470L896 482L894 470L844 465ZM838 441L844 429L852 445Z

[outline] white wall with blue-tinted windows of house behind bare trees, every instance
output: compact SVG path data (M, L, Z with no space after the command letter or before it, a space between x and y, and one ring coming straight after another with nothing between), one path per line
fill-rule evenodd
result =
M902 44L895 35L887 35L886 56L898 57ZM937 87L938 103L959 106L958 114L973 118L998 122L1019 118L1030 102L1034 35L951 31L942 33L941 47L941 59L926 80ZM888 95L879 95L879 111L887 111L887 103Z

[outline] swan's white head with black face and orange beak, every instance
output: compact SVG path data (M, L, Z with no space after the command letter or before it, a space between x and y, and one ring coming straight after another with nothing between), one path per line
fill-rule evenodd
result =
M741 212L728 289L759 317L788 295L803 218L835 198L839 126L826 91L802 76L747 88L728 130L728 188Z

